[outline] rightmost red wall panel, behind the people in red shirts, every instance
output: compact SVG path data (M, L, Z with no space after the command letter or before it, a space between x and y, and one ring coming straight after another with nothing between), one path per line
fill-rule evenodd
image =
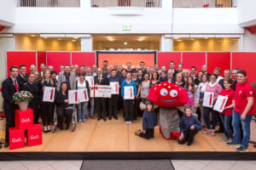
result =
M256 52L254 53L232 53L232 69L239 68L247 71L248 82L256 82Z

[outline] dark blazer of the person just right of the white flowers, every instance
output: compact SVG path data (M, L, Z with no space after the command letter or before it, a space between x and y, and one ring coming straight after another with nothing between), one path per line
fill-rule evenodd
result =
M25 82L22 87L23 91L29 91L33 98L30 100L28 104L28 108L31 108L32 110L38 109L38 83L33 82L32 84L30 82Z

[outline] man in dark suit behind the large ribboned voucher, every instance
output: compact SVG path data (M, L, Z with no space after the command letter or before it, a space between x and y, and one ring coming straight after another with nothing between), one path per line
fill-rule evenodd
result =
M94 77L94 82L97 85L108 85L108 77L102 75L102 69L98 68L97 70L98 75ZM106 110L106 98L95 98L96 99L96 109L98 112L98 121L102 119L106 122L107 121L107 110Z

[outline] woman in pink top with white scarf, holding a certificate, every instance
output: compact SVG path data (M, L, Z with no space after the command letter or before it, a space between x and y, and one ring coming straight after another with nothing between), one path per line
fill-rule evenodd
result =
M210 77L210 82L207 84L207 88L204 94L204 120L206 122L207 128L203 132L203 134L211 134L212 136L215 136L215 127L216 127L216 114L218 114L218 111L214 111L212 109L213 103L218 98L218 95L221 93L222 88L217 82L217 75L212 74ZM209 94L209 95L208 95ZM212 127L210 123L210 113L212 113Z

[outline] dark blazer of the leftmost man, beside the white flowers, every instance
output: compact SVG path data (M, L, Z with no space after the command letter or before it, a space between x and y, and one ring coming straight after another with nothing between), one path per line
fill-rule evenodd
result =
M17 80L18 88L20 91L20 80ZM2 84L2 95L3 95L3 109L6 111L8 109L17 109L18 105L15 105L13 101L13 96L16 93L16 88L15 88L15 82L11 77L7 78L5 81L3 81Z

